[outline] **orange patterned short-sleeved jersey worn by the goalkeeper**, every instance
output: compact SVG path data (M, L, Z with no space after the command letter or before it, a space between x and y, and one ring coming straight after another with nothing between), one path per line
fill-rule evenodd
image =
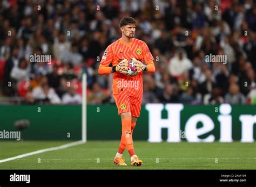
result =
M133 38L132 42L126 43L122 38L113 42L107 46L100 64L109 67L110 63L112 66L116 66L120 61L124 59L134 59L146 64L153 63L153 56L149 51L146 43L142 40ZM115 72L113 74L113 95L119 94L120 92L125 95L133 97L143 96L143 72L140 72L134 77L128 77L122 73Z

